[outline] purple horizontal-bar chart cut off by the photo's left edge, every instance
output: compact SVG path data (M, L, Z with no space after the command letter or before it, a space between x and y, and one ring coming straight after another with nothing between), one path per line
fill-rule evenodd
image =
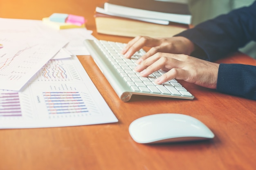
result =
M0 116L22 116L18 92L0 92Z

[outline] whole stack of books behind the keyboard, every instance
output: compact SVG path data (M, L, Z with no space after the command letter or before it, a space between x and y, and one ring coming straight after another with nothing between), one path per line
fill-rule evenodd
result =
M97 32L126 37L173 36L191 24L188 5L183 1L109 0L96 7Z

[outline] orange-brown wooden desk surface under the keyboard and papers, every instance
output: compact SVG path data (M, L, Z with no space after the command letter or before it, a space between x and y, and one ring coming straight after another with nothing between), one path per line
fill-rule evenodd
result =
M93 13L105 0L1 0L0 17L38 19L52 13L83 15L99 39ZM59 4L58 4L59 3ZM90 56L81 63L119 122L88 126L1 129L0 170L254 170L256 167L256 101L220 94L180 81L195 100L135 96L122 102ZM222 62L256 65L237 54ZM104 85L99 82L103 81ZM145 145L128 133L129 124L155 113L182 113L198 118L215 133L211 141Z

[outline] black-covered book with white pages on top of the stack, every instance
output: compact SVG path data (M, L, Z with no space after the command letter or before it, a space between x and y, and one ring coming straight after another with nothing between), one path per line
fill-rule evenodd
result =
M118 15L191 24L189 7L182 3L156 0L109 0L104 3L104 9Z

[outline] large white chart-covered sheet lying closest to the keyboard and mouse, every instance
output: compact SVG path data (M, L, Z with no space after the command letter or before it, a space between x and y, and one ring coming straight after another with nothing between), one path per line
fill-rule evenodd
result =
M0 90L0 129L117 121L75 56L48 61L21 92Z

